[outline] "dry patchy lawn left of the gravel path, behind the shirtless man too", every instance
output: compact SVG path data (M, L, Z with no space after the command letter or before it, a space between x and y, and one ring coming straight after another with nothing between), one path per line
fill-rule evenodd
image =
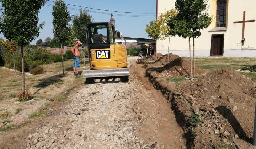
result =
M84 66L84 60L80 60L80 74L90 68L88 59L85 62ZM23 121L28 120L35 112L37 116L42 114L43 117L45 114L42 112L50 108L51 101L64 101L71 90L84 85L83 77L73 77L73 60L64 61L64 76L62 62L41 66L45 73L25 74L25 88L32 97L27 102L18 102L17 98L17 93L22 88L21 72L17 72L15 76L14 70L0 67L0 122L14 123L22 118Z

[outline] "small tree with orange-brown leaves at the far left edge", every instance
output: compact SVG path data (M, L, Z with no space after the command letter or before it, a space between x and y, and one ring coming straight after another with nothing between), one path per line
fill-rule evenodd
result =
M4 39L0 38L0 45L6 50L12 53L12 60L14 62L14 70L15 70L15 76L17 75L16 67L15 67L15 60L14 60L14 53L19 48L14 44L14 40L11 40L11 42L5 42Z

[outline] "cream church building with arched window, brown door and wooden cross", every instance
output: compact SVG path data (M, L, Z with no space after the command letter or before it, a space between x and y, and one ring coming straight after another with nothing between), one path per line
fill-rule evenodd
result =
M176 0L157 0L156 18L175 8ZM256 0L208 0L210 26L195 38L196 57L256 57ZM193 38L191 38L193 55ZM169 37L156 41L156 51L167 54ZM189 57L188 38L171 37L169 53Z

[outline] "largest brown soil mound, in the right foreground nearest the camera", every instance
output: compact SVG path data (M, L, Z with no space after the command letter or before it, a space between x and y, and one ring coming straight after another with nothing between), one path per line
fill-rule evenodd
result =
M196 148L214 147L220 140L229 144L230 137L252 138L256 91L250 78L225 68L183 85L179 92L177 99L183 96L191 106L180 108L181 112L188 117L189 111L201 114L195 127Z

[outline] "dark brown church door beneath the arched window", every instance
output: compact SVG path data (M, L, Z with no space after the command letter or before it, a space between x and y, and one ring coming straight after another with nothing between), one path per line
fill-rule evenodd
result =
M210 56L223 55L224 34L212 35Z

